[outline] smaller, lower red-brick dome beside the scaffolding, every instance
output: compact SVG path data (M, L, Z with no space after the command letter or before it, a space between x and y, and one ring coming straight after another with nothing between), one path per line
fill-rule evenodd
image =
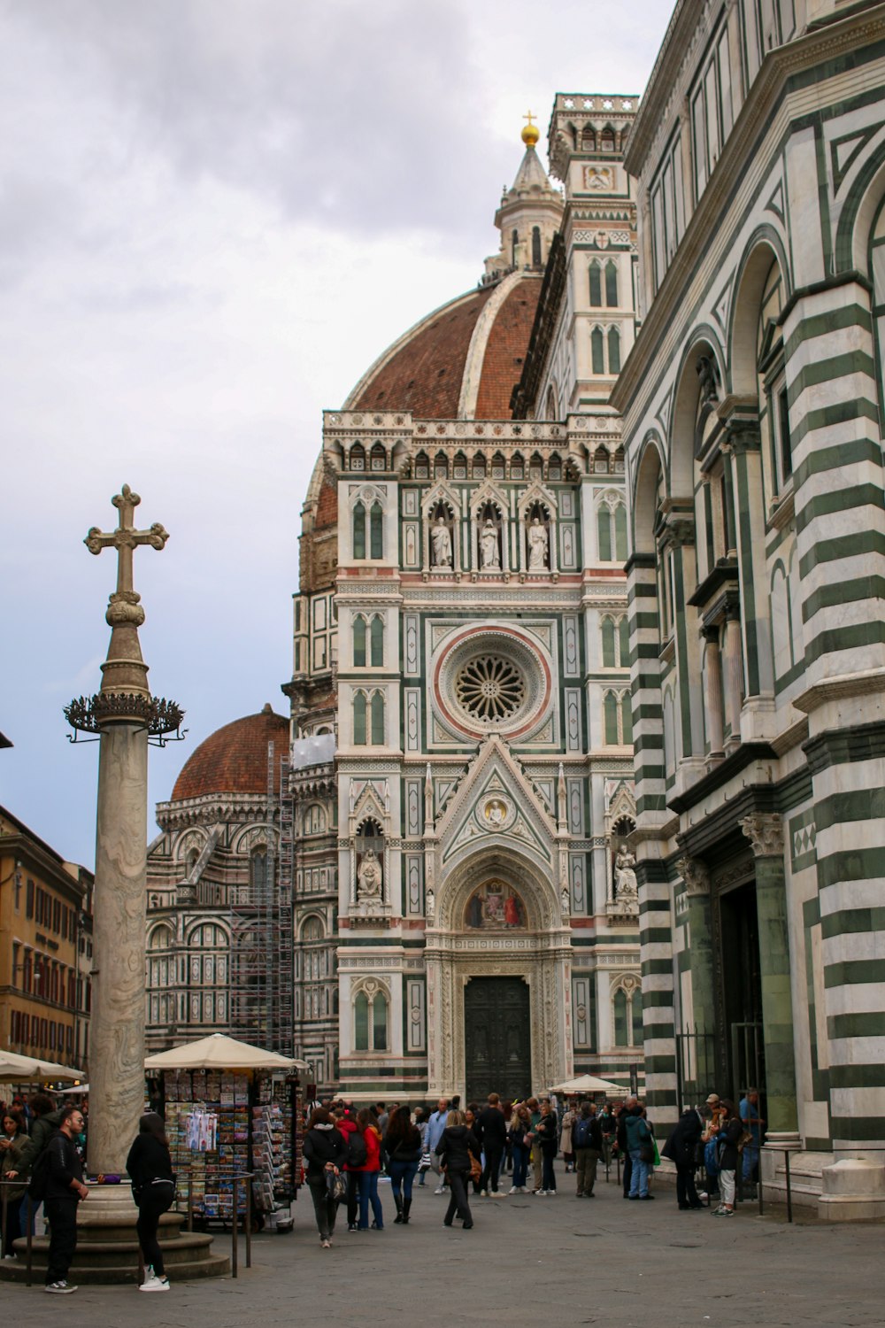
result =
M200 742L186 761L171 801L214 793L267 793L268 742L276 744L279 768L279 758L289 742L289 721L275 714L269 705L260 714L226 724Z

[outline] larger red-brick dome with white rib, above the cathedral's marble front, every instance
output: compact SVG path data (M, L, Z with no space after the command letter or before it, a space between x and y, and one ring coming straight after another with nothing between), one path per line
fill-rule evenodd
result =
M410 410L418 420L508 420L532 335L540 271L459 295L375 360L345 410Z

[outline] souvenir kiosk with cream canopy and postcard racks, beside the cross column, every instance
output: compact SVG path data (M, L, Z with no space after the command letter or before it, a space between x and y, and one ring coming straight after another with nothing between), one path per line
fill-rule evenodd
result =
M245 1185L236 1178L251 1171L256 1216L271 1230L291 1228L309 1066L212 1033L149 1056L145 1072L149 1105L166 1121L179 1195L190 1178L194 1219L230 1222L235 1190L243 1215Z

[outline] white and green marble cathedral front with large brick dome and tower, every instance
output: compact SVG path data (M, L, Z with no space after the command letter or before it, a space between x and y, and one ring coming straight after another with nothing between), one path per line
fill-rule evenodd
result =
M628 513L606 405L636 336L636 109L557 98L564 193L529 125L478 288L324 417L284 688L296 950L318 975L296 985L296 1052L354 1097L641 1070ZM317 1017L329 972L334 1028Z

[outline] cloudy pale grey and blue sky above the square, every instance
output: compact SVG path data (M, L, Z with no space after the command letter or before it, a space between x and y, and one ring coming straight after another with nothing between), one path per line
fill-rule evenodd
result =
M110 498L155 693L186 742L291 676L321 410L498 248L531 108L638 93L670 5L547 0L0 0L0 802L94 862ZM543 143L541 143L543 146Z

